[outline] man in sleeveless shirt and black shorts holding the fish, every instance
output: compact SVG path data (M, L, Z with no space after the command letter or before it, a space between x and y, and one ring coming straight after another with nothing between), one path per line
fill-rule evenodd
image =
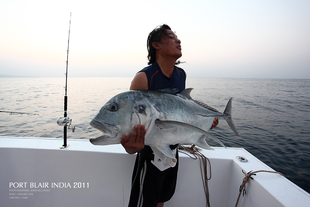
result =
M182 56L181 41L171 28L165 24L155 28L148 35L147 47L149 66L135 75L130 90L171 88L173 93L184 90L186 73L175 66L176 61ZM216 118L211 128L217 124ZM154 162L152 163L152 149L144 146L144 127L138 124L134 127L130 139L129 133L126 133L121 141L127 153L137 153L128 206L161 207L174 194L179 162L177 161L174 167L164 170L155 166ZM177 145L170 145L170 149L178 160Z

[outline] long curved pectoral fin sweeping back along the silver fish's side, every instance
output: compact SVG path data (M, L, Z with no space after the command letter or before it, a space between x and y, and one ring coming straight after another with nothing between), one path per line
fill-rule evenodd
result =
M223 147L225 147L225 145L218 139L216 138L215 136L213 136L212 134L206 132L205 130L201 129L201 128L198 128L198 127L195 127L193 125L190 125L190 124L186 124L186 123L183 123L183 122L179 122L179 121L160 121L160 120L156 120L156 123L158 124L162 124L163 126L167 126L167 127L171 127L171 126L174 126L174 127L184 127L184 128L188 128L188 129L191 129L193 131L196 131L196 132L199 132L201 134L204 134L206 135L207 137L213 139L215 142L219 143L220 145L222 145ZM199 138L198 138L199 139ZM206 141L205 141L206 142ZM226 148L226 147L225 147Z

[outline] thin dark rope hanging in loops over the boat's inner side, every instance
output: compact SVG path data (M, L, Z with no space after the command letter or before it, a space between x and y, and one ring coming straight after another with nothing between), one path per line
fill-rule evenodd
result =
M207 200L206 201L206 206L210 207L210 203L209 203L209 189L208 189L208 180L211 179L211 164L210 164L210 160L205 155L200 153L198 151L197 147L194 147L194 146L192 146L192 147L185 147L185 146L179 144L179 149L187 151L190 154L192 154L194 157L192 157L191 155L189 155L189 154L187 154L185 152L179 151L179 152L182 152L182 153L188 155L189 157L191 157L194 160L197 160L198 157L199 157L200 165L201 165L201 176L202 176L202 180L203 180L203 187L204 187L204 190L205 190L206 200ZM207 171L208 171L207 168L208 168L208 166L209 166L210 178L208 178L208 175L207 175Z

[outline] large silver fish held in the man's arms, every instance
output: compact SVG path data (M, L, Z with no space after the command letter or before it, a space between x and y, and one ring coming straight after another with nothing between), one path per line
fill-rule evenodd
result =
M145 145L164 159L166 156L174 158L170 144L193 143L203 149L214 150L206 143L206 137L209 137L224 146L207 132L215 117L223 117L239 136L231 117L232 98L224 113L220 113L201 101L193 100L190 97L192 90L187 88L179 94L132 90L114 96L90 122L92 127L104 133L92 137L90 142L94 145L119 144L122 136L131 132L135 125L144 124L147 129Z

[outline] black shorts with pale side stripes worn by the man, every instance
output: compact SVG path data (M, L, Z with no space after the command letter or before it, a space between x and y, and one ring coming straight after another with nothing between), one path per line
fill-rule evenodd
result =
M128 207L156 207L158 203L172 198L175 192L179 161L175 167L160 171L151 163L152 152L143 150L141 153L138 152L135 161ZM175 158L179 160L178 151Z

